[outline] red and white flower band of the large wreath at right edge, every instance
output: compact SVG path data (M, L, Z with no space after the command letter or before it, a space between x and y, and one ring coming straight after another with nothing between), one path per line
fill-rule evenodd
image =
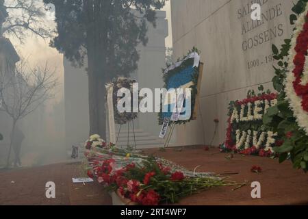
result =
M298 16L291 41L289 68L285 81L286 100L298 125L308 135L308 8Z

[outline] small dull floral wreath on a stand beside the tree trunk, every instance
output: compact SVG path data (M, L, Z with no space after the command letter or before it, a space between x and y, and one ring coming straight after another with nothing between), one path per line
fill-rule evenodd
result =
M121 88L127 88L131 91L131 96L133 96L133 83L136 83L137 81L134 79L129 79L127 77L118 77L112 79L112 85L114 87L114 92L112 94L113 96L113 103L114 103L114 121L118 125L124 125L127 122L130 122L131 120L134 120L138 117L137 113L133 112L118 112L118 101L120 98L118 97L118 90Z

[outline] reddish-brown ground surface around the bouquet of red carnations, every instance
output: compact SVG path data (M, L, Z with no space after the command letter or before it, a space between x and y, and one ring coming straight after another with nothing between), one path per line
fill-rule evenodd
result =
M200 194L183 198L179 205L308 205L308 175L294 170L290 162L279 164L277 159L242 157L218 149L205 151L201 147L187 147L183 151L168 149L146 150L181 166L198 171L220 174L238 172L230 180L259 181L261 198L251 198L250 185L232 191L233 187L211 188ZM251 167L261 166L262 172L251 172ZM55 164L38 168L0 172L0 205L111 205L110 196L98 183L73 184L72 177L80 177L79 164ZM45 183L55 182L56 198L45 197Z

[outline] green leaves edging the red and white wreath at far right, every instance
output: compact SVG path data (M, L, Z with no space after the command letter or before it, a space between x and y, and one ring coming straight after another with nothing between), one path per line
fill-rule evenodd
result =
M290 23L293 25L297 20L297 16L301 14L307 5L308 0L300 0L294 5L292 11L295 14L290 16ZM279 162L284 162L288 155L293 162L294 168L302 168L307 172L308 164L308 136L305 131L300 129L296 123L296 118L289 107L289 103L285 100L285 86L283 85L287 73L287 56L291 48L291 40L284 40L281 49L277 49L272 45L274 59L277 65L274 66L275 76L272 79L274 89L279 92L278 105L268 109L268 113L264 115L264 125L277 131L283 144L274 148L279 153Z

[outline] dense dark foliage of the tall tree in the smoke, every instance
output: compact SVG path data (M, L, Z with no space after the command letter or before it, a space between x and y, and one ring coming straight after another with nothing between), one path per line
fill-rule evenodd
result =
M55 5L57 36L51 46L77 66L103 74L106 81L138 68L136 47L148 42L147 23L156 27L155 10L165 0L44 0ZM132 10L132 8L134 10ZM91 65L94 66L91 66Z

